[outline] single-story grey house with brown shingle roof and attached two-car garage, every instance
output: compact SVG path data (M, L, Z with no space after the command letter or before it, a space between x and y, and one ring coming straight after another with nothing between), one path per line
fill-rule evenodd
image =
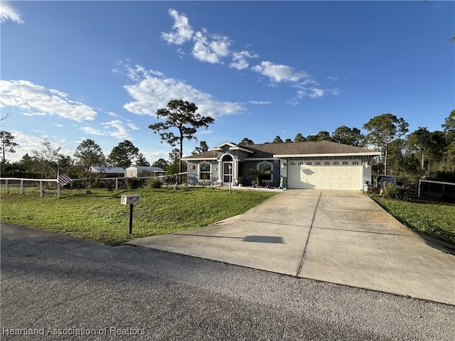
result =
M273 174L262 186L277 187L284 177L287 188L363 190L363 183L371 181L371 159L378 155L379 151L331 141L244 147L225 142L182 160L187 161L190 184L229 185L232 176L233 185L240 177L244 185L251 185L255 179L247 177L247 170L264 168Z

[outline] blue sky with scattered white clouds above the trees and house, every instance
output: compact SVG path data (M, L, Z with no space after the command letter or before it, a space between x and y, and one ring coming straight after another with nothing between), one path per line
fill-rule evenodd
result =
M128 139L153 163L149 129L171 99L215 119L189 155L395 114L441 130L455 109L453 1L2 1L1 130L73 156ZM363 131L364 133L366 131Z

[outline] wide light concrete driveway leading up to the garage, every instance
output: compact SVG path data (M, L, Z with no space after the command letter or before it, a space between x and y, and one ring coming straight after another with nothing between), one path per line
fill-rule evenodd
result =
M285 190L215 226L129 244L455 305L455 256L358 192Z

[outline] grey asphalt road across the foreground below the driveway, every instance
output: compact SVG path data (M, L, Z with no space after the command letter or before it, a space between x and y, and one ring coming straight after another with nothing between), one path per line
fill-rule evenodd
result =
M454 321L453 305L1 225L1 340L455 340Z

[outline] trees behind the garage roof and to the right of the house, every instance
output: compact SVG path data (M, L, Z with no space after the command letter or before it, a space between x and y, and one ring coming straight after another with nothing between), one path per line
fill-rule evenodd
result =
M332 134L319 131L304 137L296 134L294 139L275 136L266 144L289 144L294 142L333 141L350 146L372 146L382 155L373 160L373 171L396 175L403 179L428 178L455 181L455 110L446 117L441 130L429 131L419 127L407 134L407 122L393 114L381 114L363 125L368 134L358 128L340 126ZM240 146L255 144L245 137Z

